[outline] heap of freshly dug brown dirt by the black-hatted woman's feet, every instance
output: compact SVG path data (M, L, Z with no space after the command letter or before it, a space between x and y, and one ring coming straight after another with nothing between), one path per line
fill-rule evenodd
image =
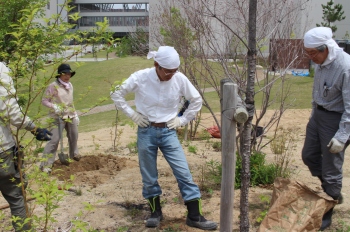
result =
M62 165L59 160L53 164L52 175L60 181L69 180L74 175L75 185L89 185L95 188L103 184L118 172L130 167L137 166L136 161L114 155L88 155L83 156L80 161L74 161L69 166Z

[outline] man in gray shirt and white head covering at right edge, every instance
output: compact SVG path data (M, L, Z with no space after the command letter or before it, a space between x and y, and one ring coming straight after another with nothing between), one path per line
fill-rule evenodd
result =
M350 55L327 27L305 33L304 51L316 67L302 158L323 190L342 203L342 166L350 135ZM321 231L331 225L332 214L333 208L323 216Z

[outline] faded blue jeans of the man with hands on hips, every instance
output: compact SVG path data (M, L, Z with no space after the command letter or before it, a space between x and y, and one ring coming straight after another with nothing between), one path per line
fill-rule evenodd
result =
M173 170L183 200L186 202L201 197L198 186L193 182L176 130L166 127L138 127L137 148L144 198L148 199L162 194L158 184L158 148Z

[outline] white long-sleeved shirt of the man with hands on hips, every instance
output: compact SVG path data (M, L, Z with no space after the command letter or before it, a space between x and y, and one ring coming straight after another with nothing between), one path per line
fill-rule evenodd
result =
M180 117L185 125L195 118L202 107L202 97L188 78L177 72L169 81L160 81L155 68L133 73L111 94L116 107L128 117L134 110L127 104L125 95L135 93L137 112L145 115L150 122L168 122L178 114L181 97L190 101L190 105Z

